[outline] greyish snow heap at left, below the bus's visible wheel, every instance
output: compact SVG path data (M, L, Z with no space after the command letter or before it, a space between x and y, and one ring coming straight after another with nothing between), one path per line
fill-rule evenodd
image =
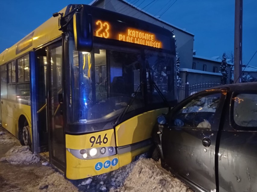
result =
M29 146L14 146L5 153L0 161L8 161L11 164L29 164L37 163L40 159L36 154L32 154Z

